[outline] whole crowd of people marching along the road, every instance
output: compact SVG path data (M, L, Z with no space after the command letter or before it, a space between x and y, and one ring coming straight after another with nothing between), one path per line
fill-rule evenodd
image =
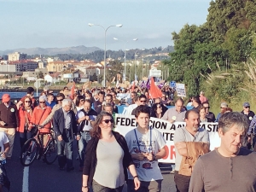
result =
M158 160L166 156L166 140L160 131L149 126L152 117L186 123L177 128L173 141L176 159L171 173L177 191L256 190L256 177L250 169L256 163L256 154L249 150L256 142L256 115L248 102L244 102L239 113L222 102L220 113L215 116L204 92L192 96L184 105L182 98L174 99L174 90L169 86L162 88L159 98L151 98L148 90L139 87L83 88L73 92L64 87L56 96L45 88L38 101L33 92L28 87L26 96L16 104L9 94L2 97L0 131L5 134L0 135L0 152L7 160L13 154L15 132L22 148L32 137L34 125L39 125L43 140L50 129L54 131L61 171L72 172L73 159L78 157L83 192L90 187L94 192L121 192L125 182L129 192L157 192L163 180ZM121 101L118 93L128 97ZM125 106L122 113L134 115L137 121L137 128L125 136L113 131L115 114L120 113L121 105ZM201 122L218 122L221 145L212 152L209 134L200 128ZM77 153L73 153L74 141ZM4 165L0 167L4 169ZM239 182L238 176L243 168L245 183ZM0 174L0 186L3 182Z

